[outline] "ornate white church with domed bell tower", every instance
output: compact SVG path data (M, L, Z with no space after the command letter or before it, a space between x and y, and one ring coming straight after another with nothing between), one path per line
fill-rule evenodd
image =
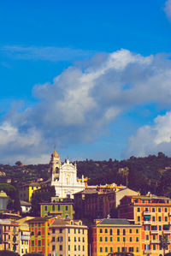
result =
M67 160L62 164L59 154L55 151L50 158L51 186L55 187L56 197L74 199L74 193L85 189L84 176L77 178L76 164Z

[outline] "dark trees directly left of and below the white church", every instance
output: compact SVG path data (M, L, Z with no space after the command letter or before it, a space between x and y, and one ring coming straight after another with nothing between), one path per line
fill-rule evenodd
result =
M51 197L55 195L56 195L56 192L54 187L50 187L48 192L32 194L32 210L30 212L31 216L39 216L40 215L39 203L50 202Z

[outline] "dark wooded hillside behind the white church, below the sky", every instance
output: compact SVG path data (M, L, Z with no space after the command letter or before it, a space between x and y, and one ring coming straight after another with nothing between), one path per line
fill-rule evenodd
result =
M91 185L115 182L126 185L126 176L118 172L120 168L127 167L128 187L141 193L156 193L171 196L171 158L159 152L157 156L146 158L131 157L127 160L77 161L78 176L88 176ZM12 179L18 185L37 181L38 178L47 180L50 177L48 164L30 164L25 166L10 166L0 164L0 182Z

